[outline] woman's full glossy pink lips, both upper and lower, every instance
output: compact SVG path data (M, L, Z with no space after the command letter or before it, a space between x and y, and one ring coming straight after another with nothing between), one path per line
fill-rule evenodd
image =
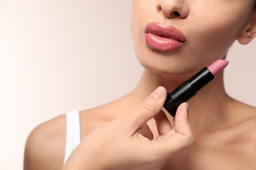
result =
M144 28L144 41L150 48L172 51L183 44L185 36L175 27L152 22Z

